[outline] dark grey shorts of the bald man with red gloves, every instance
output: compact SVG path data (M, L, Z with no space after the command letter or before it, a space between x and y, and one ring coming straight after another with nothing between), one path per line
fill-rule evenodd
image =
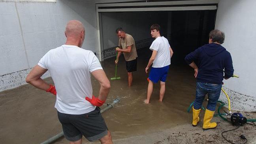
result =
M58 112L65 138L71 142L83 136L89 141L98 140L107 135L107 126L100 114L100 108L86 114L64 114Z

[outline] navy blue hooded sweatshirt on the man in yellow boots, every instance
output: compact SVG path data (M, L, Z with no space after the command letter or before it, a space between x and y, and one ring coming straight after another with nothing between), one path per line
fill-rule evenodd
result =
M221 84L223 72L225 78L233 76L233 65L230 53L220 44L205 44L186 55L186 63L198 61L197 82Z

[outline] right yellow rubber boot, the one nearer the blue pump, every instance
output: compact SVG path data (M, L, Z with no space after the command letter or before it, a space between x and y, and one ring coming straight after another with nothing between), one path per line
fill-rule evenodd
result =
M215 111L206 109L205 116L203 118L203 130L214 129L217 126L216 122L211 122L214 112Z

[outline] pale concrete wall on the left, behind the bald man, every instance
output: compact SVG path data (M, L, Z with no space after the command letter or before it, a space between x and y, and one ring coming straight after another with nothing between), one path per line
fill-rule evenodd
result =
M72 19L85 26L83 48L96 52L94 0L0 2L0 91L24 84L40 58L65 43L65 26Z

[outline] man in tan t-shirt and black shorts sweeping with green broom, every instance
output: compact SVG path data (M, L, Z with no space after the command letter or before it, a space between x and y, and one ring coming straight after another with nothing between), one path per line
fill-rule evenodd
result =
M121 53L124 53L124 59L126 61L126 70L128 74L128 86L132 86L132 72L137 70L137 51L132 35L129 35L122 30L117 28L117 36L119 37L119 48L116 48L118 54L115 63L117 65Z

